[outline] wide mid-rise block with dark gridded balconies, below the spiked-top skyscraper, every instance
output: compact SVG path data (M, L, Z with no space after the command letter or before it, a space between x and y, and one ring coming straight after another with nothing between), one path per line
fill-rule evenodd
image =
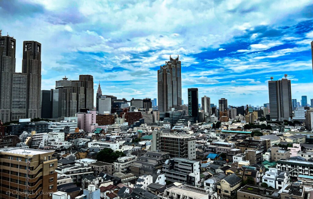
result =
M187 134L171 134L153 131L152 150L169 152L170 157L196 158L196 141Z

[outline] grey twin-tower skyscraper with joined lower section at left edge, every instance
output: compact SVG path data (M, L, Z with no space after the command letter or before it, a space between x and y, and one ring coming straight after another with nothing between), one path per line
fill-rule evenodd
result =
M41 44L23 42L22 72L15 72L16 40L0 32L0 120L40 118Z

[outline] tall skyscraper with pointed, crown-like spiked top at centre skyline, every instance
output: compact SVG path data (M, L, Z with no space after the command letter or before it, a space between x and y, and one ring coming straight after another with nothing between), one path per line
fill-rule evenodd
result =
M165 62L157 71L158 110L170 111L172 107L182 105L181 62L179 57ZM197 103L198 104L198 103Z

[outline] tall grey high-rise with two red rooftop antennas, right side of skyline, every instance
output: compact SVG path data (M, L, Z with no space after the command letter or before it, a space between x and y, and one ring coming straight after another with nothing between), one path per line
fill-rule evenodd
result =
M283 121L292 118L290 80L285 78L269 81L269 107L271 120Z

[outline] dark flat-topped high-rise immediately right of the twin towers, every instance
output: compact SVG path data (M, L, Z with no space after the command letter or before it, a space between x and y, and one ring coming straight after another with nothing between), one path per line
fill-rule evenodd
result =
M52 118L53 89L41 90L40 110L41 118Z

